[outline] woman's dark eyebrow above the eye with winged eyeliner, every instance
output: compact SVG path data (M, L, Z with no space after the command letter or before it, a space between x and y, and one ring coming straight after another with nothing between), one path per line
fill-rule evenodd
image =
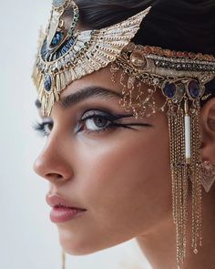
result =
M77 92L68 95L65 98L61 98L58 101L58 103L63 109L67 109L91 97L106 99L106 98L122 98L123 96L122 94L114 91L113 89L93 86L93 87L82 88L78 90ZM41 102L38 99L36 99L35 104L36 104L37 109L41 108Z

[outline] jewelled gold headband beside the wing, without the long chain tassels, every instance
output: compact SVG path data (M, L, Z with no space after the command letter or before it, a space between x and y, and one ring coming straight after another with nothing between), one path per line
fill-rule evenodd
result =
M133 109L137 117L149 117L157 110L164 111L172 102L179 105L182 100L205 99L205 85L215 78L215 57L211 55L172 51L161 47L143 47L129 43L121 55L112 63L113 77L119 69L123 70L121 84L124 86L123 107ZM128 85L123 83L124 75L128 77ZM135 82L148 85L148 98L140 100L139 95L132 102ZM125 87L127 86L127 87ZM153 101L157 89L161 89L166 98L165 104L158 108ZM129 90L127 90L129 89ZM139 90L143 95L143 90ZM137 102L137 100L139 100Z

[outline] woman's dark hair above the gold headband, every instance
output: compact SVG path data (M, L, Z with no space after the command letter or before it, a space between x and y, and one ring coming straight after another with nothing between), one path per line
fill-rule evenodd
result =
M89 29L111 26L152 6L133 41L179 51L215 55L215 0L76 0ZM206 94L215 97L215 79ZM202 101L201 105L204 102Z

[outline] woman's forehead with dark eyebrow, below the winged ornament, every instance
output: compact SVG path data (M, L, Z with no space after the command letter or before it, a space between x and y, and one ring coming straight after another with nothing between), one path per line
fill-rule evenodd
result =
M122 74L122 70L119 69L118 72L115 73L115 78L113 80L113 74L110 71L110 65L108 65L107 67L103 67L90 75L79 78L62 91L60 100L56 102L56 106L54 106L54 108L71 108L78 102L93 97L101 98L103 100L104 98L112 98L112 104L115 102L117 103L118 98L123 98L129 91L127 88L128 77L124 74L124 79L122 80ZM154 100L156 100L158 106L163 105L164 102L164 98L160 92L161 89L158 88L157 92L154 94ZM144 102L144 99L148 98L148 86L142 83L141 88L133 88L133 101L138 97L138 94L141 95L141 101ZM140 99L138 102L139 101ZM150 101L152 101L152 99ZM137 101L135 101L135 103L137 104ZM38 105L36 105L36 107L40 109Z

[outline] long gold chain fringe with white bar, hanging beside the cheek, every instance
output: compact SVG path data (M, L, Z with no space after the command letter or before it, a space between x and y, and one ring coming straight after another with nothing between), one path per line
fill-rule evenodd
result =
M179 268L186 257L188 221L188 181L192 182L192 247L198 253L201 245L201 176L200 176L200 102L188 98L184 109L169 100L169 145L172 177L173 220L176 225L177 262Z

